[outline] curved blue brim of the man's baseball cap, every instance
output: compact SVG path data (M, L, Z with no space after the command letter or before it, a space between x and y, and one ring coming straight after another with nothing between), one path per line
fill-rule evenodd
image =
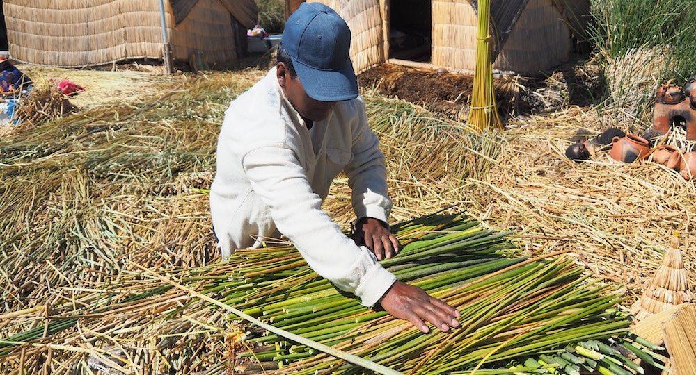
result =
M344 101L358 97L358 78L350 61L340 70L320 70L308 67L292 58L292 66L302 87L317 101Z

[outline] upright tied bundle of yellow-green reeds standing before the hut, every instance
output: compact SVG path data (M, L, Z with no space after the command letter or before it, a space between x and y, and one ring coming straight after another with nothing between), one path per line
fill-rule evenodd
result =
M490 0L478 1L478 36L476 44L476 67L474 87L471 94L471 110L466 120L479 131L487 128L503 128L496 108L493 90L493 61L491 61Z

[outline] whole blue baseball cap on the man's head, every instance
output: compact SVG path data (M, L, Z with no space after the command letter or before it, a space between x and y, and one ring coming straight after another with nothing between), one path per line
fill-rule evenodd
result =
M310 98L343 101L358 97L350 38L346 22L322 3L301 3L288 17L283 49Z

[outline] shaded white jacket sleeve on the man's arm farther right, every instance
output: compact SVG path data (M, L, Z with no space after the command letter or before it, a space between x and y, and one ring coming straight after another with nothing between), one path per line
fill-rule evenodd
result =
M353 158L344 169L352 191L353 209L358 219L374 217L386 223L392 201L387 194L384 155L379 151L377 135L367 126L365 102L357 99L353 103L356 111L351 124Z

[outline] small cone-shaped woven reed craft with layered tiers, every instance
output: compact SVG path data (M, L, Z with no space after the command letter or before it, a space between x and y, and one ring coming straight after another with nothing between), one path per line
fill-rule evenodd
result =
M674 238L665 252L662 264L647 283L642 297L633 304L632 312L637 319L644 319L672 306L692 301L693 294L689 289L680 245L679 232L674 232Z

